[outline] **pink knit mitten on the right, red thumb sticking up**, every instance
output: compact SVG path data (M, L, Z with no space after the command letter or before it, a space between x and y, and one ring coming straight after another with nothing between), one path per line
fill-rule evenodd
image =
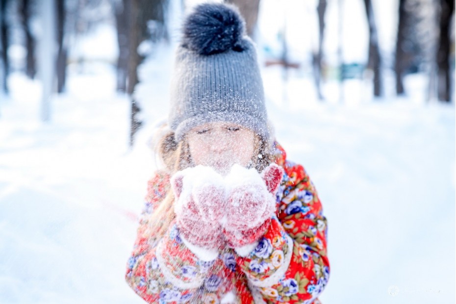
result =
M231 168L226 177L226 219L222 221L231 248L255 244L266 232L276 211L275 193L281 180L282 169L276 164L269 165L261 175L238 165Z

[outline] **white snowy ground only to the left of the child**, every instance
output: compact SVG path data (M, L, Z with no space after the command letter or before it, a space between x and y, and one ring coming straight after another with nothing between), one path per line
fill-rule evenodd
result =
M42 124L37 99L21 96L33 97L34 83L10 80L18 87L1 102L0 303L141 303L123 268L151 159L127 151L127 101L102 77L73 77L78 91L53 100L52 122Z

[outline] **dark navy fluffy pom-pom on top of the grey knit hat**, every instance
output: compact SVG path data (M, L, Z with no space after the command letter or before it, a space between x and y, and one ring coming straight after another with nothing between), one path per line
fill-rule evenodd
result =
M237 10L222 3L198 5L184 23L184 47L202 55L243 51L244 21Z

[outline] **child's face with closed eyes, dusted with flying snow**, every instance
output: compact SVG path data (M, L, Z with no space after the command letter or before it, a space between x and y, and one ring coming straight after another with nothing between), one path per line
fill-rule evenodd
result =
M195 165L213 167L223 175L234 164L246 167L257 145L251 129L220 122L192 128L187 133L187 140Z

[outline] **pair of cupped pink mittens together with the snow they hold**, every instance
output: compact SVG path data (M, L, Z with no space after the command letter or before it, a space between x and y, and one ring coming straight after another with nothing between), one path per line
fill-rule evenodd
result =
M257 245L276 209L274 193L282 169L233 165L226 177L198 165L171 178L175 213L182 240L200 258L212 260L224 246L244 256Z

